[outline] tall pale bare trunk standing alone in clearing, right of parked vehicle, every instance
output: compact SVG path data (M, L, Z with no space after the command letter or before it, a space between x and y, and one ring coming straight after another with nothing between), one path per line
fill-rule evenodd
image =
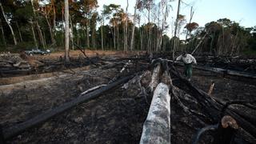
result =
M65 61L70 62L70 23L69 23L69 1L65 0Z

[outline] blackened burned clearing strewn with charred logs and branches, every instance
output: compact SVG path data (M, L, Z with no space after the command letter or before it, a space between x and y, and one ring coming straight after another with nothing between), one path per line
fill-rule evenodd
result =
M255 59L198 56L189 82L168 55L83 56L69 64L39 58L43 66L26 68L3 64L2 142L138 143L147 141L148 124L149 134L158 132L150 138L171 143L255 143ZM158 111L167 125L148 120L157 94L170 97L169 108Z

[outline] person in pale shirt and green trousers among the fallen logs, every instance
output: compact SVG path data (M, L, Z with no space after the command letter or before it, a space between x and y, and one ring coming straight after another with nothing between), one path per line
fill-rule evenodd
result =
M192 63L197 64L197 61L191 54L186 54L185 52L176 58L176 61L180 60L184 62L184 74L186 78L190 81L190 78L192 76Z

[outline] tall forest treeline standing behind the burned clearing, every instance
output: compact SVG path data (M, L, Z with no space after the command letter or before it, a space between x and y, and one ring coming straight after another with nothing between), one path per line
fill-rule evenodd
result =
M128 13L128 0L124 2L125 10L115 4L98 10L97 0L70 0L70 49L76 45L90 50L191 52L197 48L216 55L256 50L256 26L220 18L199 27L193 22L192 7L190 14L178 13L176 21L170 22L170 13L176 12L169 0L136 0L134 14ZM64 50L63 0L2 0L0 9L0 50ZM167 30L175 31L172 38ZM181 34L185 40L179 39Z

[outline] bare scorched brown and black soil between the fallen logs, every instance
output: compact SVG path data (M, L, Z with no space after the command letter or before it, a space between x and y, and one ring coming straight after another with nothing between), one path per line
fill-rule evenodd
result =
M94 56L103 53L106 57L129 58L133 54L122 52L88 51ZM71 52L72 57L78 57L78 51ZM57 60L62 53L37 56L39 60ZM124 63L128 60L122 60ZM138 67L143 66L142 64ZM182 67L178 67L182 72ZM64 70L64 71L63 71ZM58 72L12 77L6 84L0 86L0 124L2 129L15 126L43 111L54 109L65 102L77 98L82 91L94 86L107 84L114 79L122 66L110 69L83 66L72 70L61 69ZM65 71L66 70L66 71ZM132 71L132 70L131 70ZM147 76L145 79L150 79ZM8 81L8 82L7 82ZM4 83L3 82L3 83ZM174 85L182 87L177 79ZM204 70L194 70L192 78L198 88L208 91L210 84L215 82L213 97L224 101L256 100L256 86L250 82L223 78L220 74ZM101 97L82 103L60 114L42 125L10 139L7 143L138 143L142 134L142 125L150 106L152 95L141 94L137 83L130 89L118 86ZM191 143L197 130L203 125L194 115L187 115L182 108L171 102L171 142ZM255 113L251 113L254 114ZM241 134L241 133L240 133ZM201 143L213 141L213 133L203 136ZM256 142L255 139L248 140Z

